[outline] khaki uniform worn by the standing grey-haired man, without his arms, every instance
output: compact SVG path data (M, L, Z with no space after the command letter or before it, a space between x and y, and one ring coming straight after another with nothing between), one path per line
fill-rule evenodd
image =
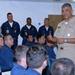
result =
M75 17L73 17L68 22L68 24L65 24L64 20L60 22L57 26L54 36L57 38L75 38ZM75 44L71 43L58 44L58 52L56 57L70 58L75 63Z

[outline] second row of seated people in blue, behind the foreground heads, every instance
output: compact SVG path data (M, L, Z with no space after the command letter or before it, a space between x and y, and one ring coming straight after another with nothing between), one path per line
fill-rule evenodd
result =
M1 66L2 72L9 71L13 67L14 54L15 54L15 52L11 48L13 44L14 44L14 41L11 35L9 34L5 35L4 39L2 35L0 35L0 66ZM50 44L49 36L47 37L46 44L45 44L44 34L38 34L36 42L34 42L32 35L29 34L27 36L27 41L24 45L27 47L31 47L38 44L44 45L46 47L49 58L52 58L52 59L56 58L56 55L53 49L50 47L51 44Z

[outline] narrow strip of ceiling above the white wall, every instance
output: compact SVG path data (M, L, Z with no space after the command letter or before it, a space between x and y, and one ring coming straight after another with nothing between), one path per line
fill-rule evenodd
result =
M25 1L25 2L58 2L58 3L71 3L73 0L0 0L0 1ZM74 1L75 2L75 1Z

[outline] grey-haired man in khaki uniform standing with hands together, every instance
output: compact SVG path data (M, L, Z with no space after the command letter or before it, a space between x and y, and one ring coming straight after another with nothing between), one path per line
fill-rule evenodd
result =
M64 20L58 24L55 37L50 35L50 40L58 44L56 58L70 58L75 63L75 17L72 13L72 6L69 3L62 5Z

